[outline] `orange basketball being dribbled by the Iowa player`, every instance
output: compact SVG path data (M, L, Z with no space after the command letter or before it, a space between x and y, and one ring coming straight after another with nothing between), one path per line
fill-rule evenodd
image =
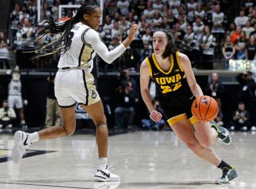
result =
M191 111L194 118L202 122L210 122L217 117L219 106L214 98L204 95L194 100Z

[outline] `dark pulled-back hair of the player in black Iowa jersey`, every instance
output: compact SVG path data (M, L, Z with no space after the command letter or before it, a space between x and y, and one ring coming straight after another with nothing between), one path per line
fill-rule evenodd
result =
M179 49L175 45L175 39L176 39L175 33L172 31L169 33L166 30L156 30L156 32L159 32L159 31L165 33L165 35L167 37L167 45L166 45L165 50L164 50L163 54L161 55L161 57L167 58L170 56L170 54L173 54L176 51L179 51Z

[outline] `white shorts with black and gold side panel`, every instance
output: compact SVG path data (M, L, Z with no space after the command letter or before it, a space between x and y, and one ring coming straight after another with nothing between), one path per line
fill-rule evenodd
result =
M58 71L54 91L60 107L72 107L75 103L86 106L100 101L92 73L85 70Z

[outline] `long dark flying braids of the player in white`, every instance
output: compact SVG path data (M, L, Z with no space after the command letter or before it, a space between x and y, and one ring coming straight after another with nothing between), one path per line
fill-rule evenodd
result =
M36 55L35 57L42 57L50 54L54 54L56 52L61 52L61 54L64 54L68 49L70 48L71 45L71 29L72 27L80 22L84 16L84 14L90 14L93 12L93 10L98 7L95 4L92 4L90 2L86 2L86 4L82 5L78 11L77 14L72 17L69 20L64 21L63 23L55 23L53 20L53 17L51 16L46 16L44 20L39 21L39 23L34 24L32 27L38 27L38 34L35 35L31 40L29 40L25 45L31 44L33 42L38 41L41 39L43 36L47 35L47 33L50 34L61 34L61 36L56 40L51 42L48 45L45 45L41 49L38 49L33 52L38 52L41 50L48 51L45 54L41 55ZM54 48L49 48L53 47ZM56 47L55 47L56 46ZM33 57L33 58L35 58Z

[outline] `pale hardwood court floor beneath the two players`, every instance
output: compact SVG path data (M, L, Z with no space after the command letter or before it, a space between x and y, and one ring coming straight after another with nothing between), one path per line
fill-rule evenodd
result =
M256 134L251 132L235 132L231 145L218 141L213 147L239 173L229 185L214 184L221 171L194 156L170 131L109 137L111 171L121 176L121 182L93 182L97 168L93 135L36 142L20 165L6 158L12 145L12 135L0 135L1 189L256 188Z

